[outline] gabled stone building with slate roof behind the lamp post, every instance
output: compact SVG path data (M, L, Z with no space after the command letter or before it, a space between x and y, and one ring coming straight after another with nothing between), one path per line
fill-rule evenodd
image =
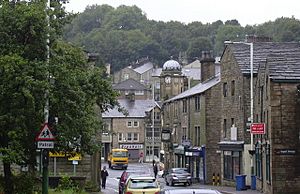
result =
M255 166L255 162L259 162L259 160L255 155L252 156L257 140L251 141L250 135L251 44L253 45L253 84L257 83L259 65L266 62L268 56L271 54L291 54L298 52L299 49L299 43L240 42L226 45L221 58L222 97L220 112L222 127L221 141L219 142L222 162L221 181L224 185L234 186L236 175L241 174L246 175L246 185L251 185L251 175L259 173L259 168ZM278 91L278 93L281 92ZM254 95L253 101L257 98L258 96ZM281 103L277 99L278 102ZM253 111L255 109L257 107L253 107ZM269 119L271 119L271 113L268 114ZM277 109L273 114L280 114L280 112ZM252 118L254 118L254 122L257 121L253 114ZM276 117L274 119L276 120ZM270 122L276 123L278 121ZM280 136L285 134L284 130L281 130L283 128L279 128L276 132L276 138L280 139ZM271 164L276 164L272 156ZM284 171L286 170L284 169ZM286 172L286 174L288 173ZM257 177L256 180L259 181L259 179ZM275 185L273 184L273 186Z

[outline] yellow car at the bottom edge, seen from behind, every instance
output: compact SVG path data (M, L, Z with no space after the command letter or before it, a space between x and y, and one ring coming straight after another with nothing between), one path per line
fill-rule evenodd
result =
M129 177L125 185L125 194L159 194L159 182L152 176Z

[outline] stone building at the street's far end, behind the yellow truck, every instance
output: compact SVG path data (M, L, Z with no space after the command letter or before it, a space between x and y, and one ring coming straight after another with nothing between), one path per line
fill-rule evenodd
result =
M150 152L152 147L149 148L149 144L153 141L145 143L146 140L152 138L152 134L148 133L149 123L151 122L149 114L153 110L155 111L154 114L157 114L160 112L160 108L154 100L120 99L118 102L126 111L126 114L119 112L117 108L110 109L102 114L105 131L112 136L110 148L108 147L105 150L105 154L108 154L112 148L126 148L129 151L129 159L137 161L141 152L152 153ZM159 131L155 133L156 136L154 137L154 152L158 153L160 150L160 138L158 138L160 122L155 123L154 130ZM151 137L148 137L150 135ZM148 147L148 150L145 146ZM147 155L145 156L147 157Z

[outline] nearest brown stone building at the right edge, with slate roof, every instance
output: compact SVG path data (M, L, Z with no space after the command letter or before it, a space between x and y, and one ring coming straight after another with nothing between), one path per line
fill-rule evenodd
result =
M300 44L287 54L268 55L255 83L257 189L263 193L300 193Z

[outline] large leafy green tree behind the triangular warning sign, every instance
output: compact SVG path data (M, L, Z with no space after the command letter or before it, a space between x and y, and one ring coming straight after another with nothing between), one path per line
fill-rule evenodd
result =
M70 151L70 145L85 152L98 149L93 142L101 128L95 105L100 112L117 105L104 71L87 65L80 49L58 40L69 17L59 1L52 6L47 11L49 29L45 2L0 3L0 159L6 194L14 193L11 164L28 164L34 176L35 136L44 122L46 91L51 116L60 117L57 149L64 151ZM47 34L51 35L49 64Z

